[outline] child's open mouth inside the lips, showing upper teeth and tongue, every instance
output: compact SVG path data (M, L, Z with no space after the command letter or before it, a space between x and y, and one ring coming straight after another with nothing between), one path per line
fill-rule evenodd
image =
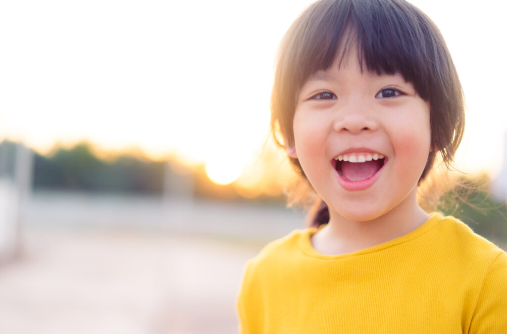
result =
M338 174L347 181L357 182L375 175L387 162L381 154L340 155L333 160Z

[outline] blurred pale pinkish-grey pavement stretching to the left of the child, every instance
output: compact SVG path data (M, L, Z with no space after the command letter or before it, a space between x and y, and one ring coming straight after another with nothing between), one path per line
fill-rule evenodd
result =
M245 262L302 227L269 205L35 194L0 265L0 333L236 333Z

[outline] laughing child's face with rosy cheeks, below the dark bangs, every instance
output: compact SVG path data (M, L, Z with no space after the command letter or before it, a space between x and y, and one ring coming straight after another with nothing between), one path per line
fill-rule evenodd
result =
M341 66L335 61L305 83L293 125L291 156L331 219L367 221L417 206L430 150L429 105L402 76L361 72L349 52Z

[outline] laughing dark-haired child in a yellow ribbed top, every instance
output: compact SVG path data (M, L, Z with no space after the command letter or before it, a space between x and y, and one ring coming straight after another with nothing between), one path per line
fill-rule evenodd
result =
M417 204L464 126L455 67L422 12L313 4L283 38L271 102L321 202L313 227L248 262L242 333L507 333L505 252Z

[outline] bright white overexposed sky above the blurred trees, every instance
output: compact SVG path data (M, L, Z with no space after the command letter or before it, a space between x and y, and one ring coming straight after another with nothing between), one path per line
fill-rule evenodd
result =
M0 138L90 140L239 174L268 133L274 56L311 1L0 3ZM414 0L442 31L467 103L463 171L500 170L503 2Z

